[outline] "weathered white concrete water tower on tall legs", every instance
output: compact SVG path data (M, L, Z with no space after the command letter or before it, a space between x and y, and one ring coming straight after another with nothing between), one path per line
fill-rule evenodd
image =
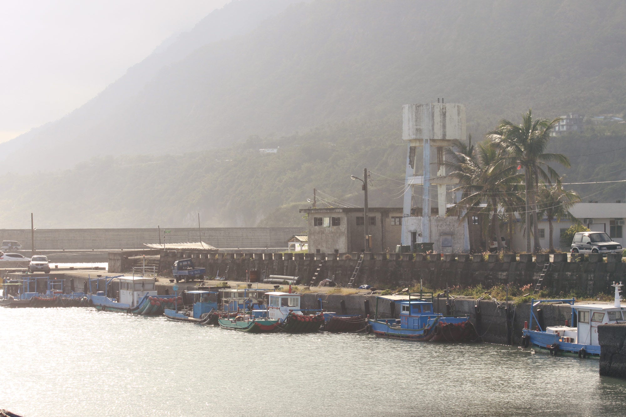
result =
M431 224L445 223L441 217L446 215L446 198L450 196L446 186L457 182L446 177L444 149L450 147L454 139L465 140L465 106L444 104L443 99L437 101L403 106L402 139L406 141L408 150L401 239L403 245L435 242L435 247L441 250L442 244L436 239L438 236L433 235ZM433 206L438 207L438 217L433 217ZM448 230L446 233L452 232ZM469 247L466 232L463 247L465 242Z

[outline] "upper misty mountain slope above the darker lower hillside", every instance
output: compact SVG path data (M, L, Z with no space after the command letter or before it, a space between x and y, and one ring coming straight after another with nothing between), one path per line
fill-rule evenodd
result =
M225 21L237 23L257 1ZM254 16L156 51L118 82L123 88L0 145L2 166L23 172L101 155L181 154L353 118L399 121L404 103L436 97L466 104L475 133L530 106L551 115L624 110L623 1L278 3L295 4L260 16L247 33ZM215 16L208 22L220 22Z

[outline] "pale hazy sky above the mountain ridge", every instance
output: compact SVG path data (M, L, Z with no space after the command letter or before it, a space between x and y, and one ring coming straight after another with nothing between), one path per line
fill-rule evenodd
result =
M74 110L228 1L3 1L0 142Z

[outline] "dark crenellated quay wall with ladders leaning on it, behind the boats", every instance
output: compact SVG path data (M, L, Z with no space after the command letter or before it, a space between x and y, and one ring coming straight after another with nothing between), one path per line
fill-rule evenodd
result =
M314 272L321 268L318 279L334 279L346 286L354 272L359 254L211 254L198 251L165 250L160 252L160 274L172 275L172 265L177 259L191 258L196 267L205 267L208 276L223 275L228 267L226 279L245 281L247 271L263 271L267 275L299 276L300 282L309 285ZM377 288L403 288L419 285L429 288L475 287L479 284L490 288L498 284L526 286L535 284L550 263L550 256L475 254L366 254L355 285L369 284ZM113 271L121 272L121 271ZM542 288L553 294L611 294L613 281L621 281L626 272L626 263L619 254L610 254L606 259L600 255L589 255L582 261L568 260L567 254L555 254L550 270L543 280Z

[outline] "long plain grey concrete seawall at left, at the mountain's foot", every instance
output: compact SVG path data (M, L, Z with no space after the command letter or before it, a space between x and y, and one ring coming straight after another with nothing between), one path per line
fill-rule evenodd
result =
M167 243L202 241L217 248L286 248L287 240L302 233L302 227L203 227L168 229ZM163 239L163 228L161 229ZM17 240L23 249L31 248L30 229L0 229L1 240ZM158 229L37 229L35 249L141 249L145 243L158 243Z

